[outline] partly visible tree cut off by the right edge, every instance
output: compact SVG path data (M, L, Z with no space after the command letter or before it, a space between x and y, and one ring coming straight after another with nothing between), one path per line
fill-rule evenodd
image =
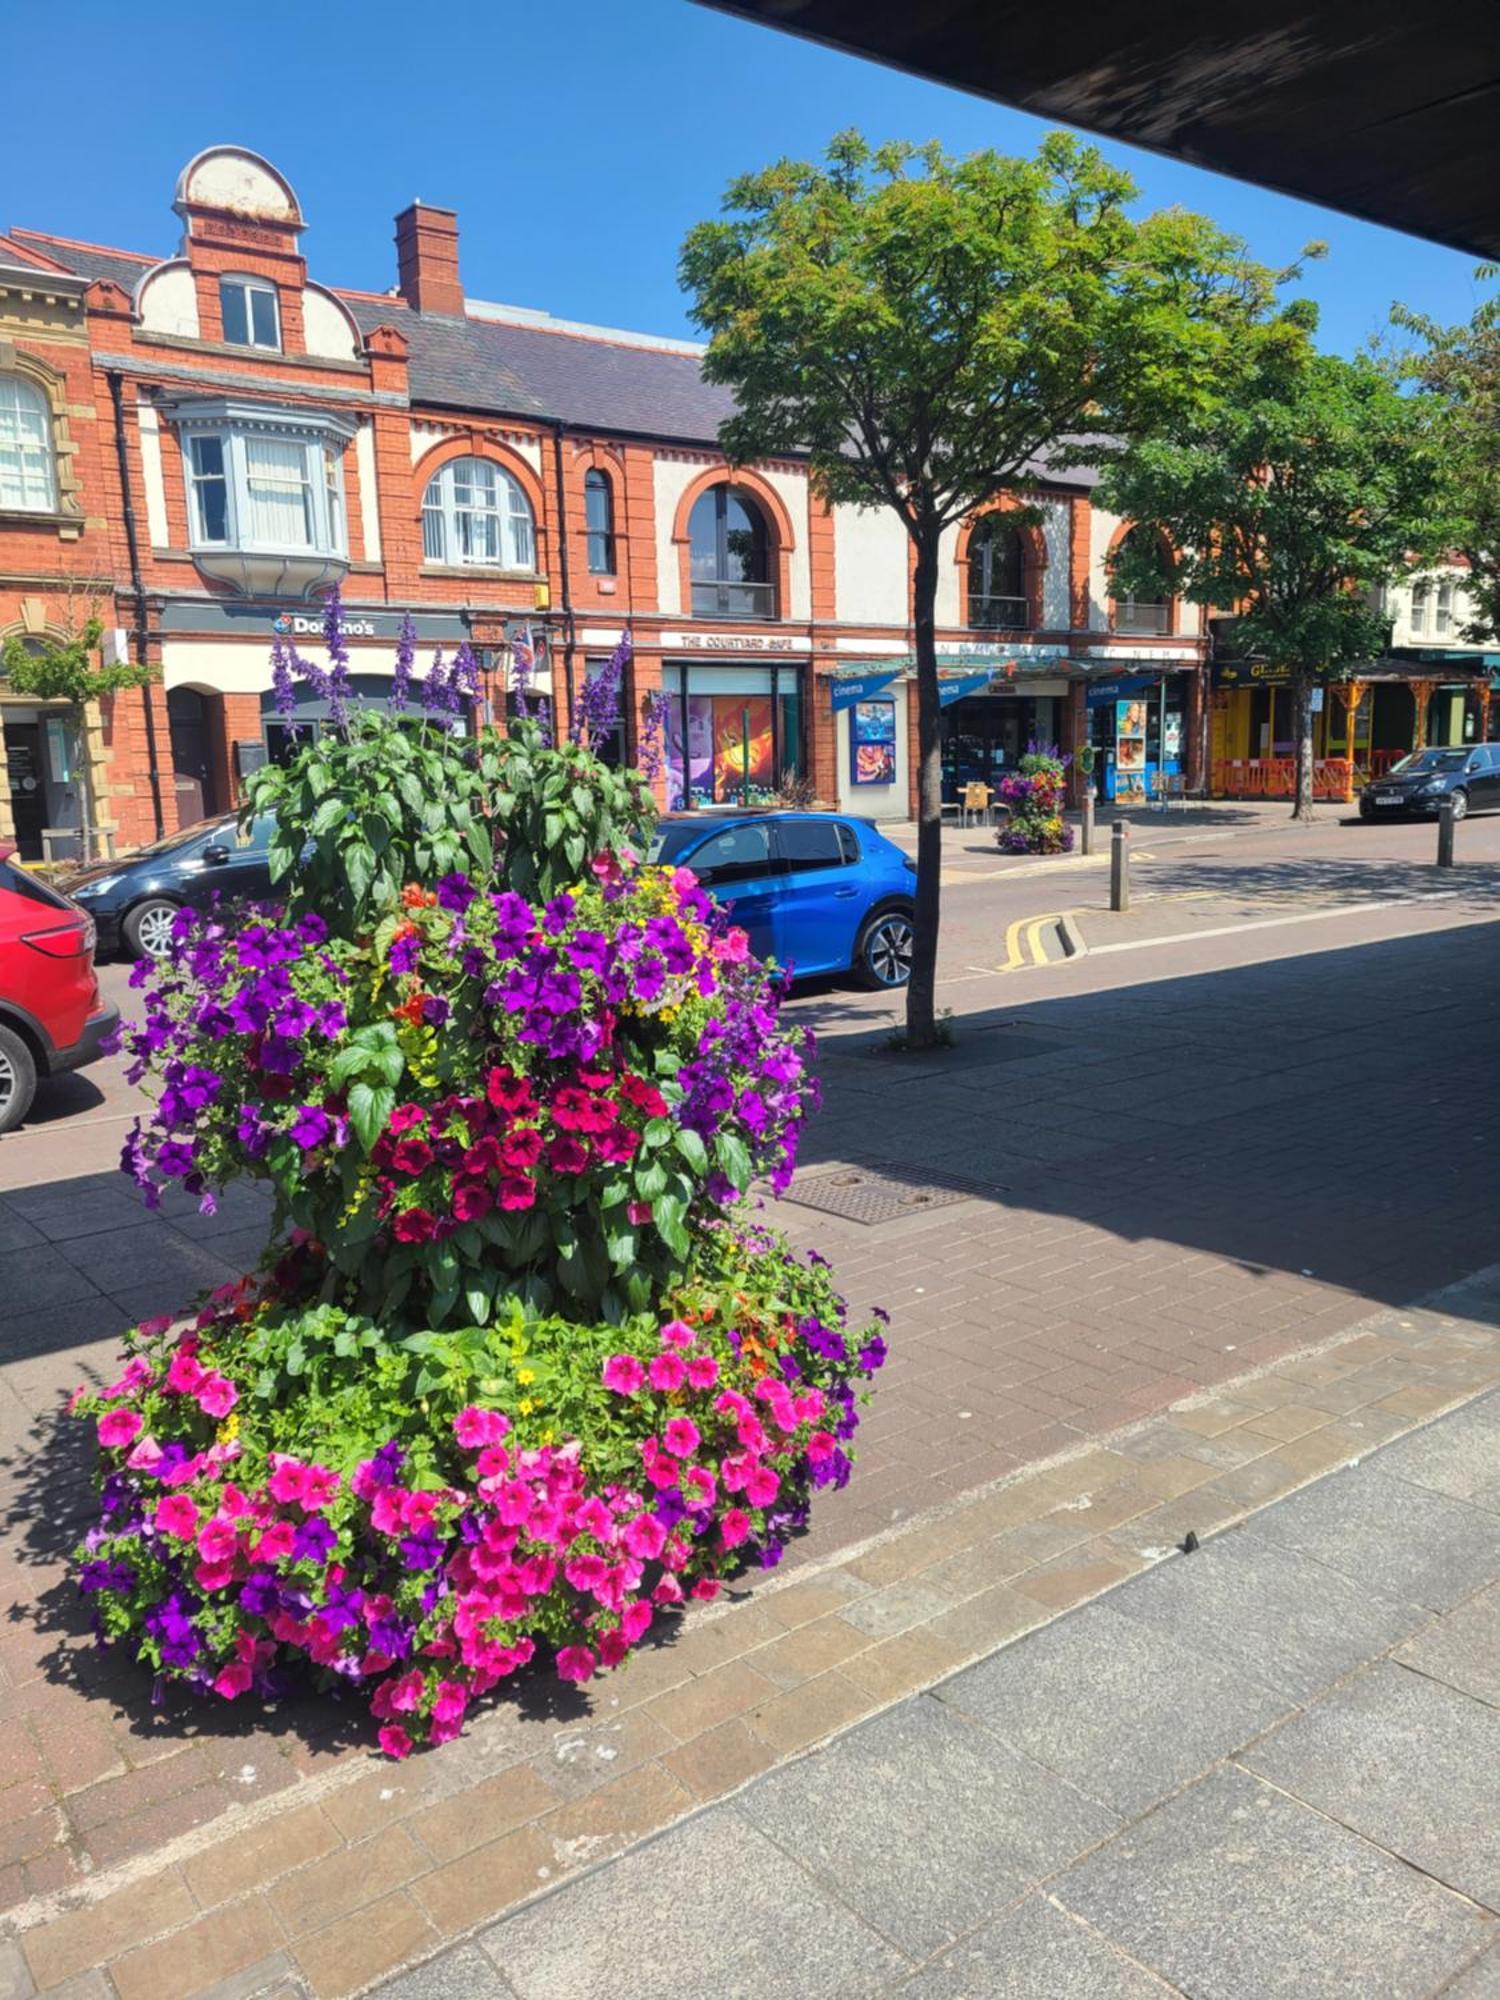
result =
M1476 272L1480 280L1496 276L1494 264ZM1404 358L1402 372L1430 396L1446 552L1468 562L1474 616L1464 638L1494 644L1500 640L1500 294L1482 300L1460 326L1442 326L1408 306L1396 306L1392 318L1422 344Z

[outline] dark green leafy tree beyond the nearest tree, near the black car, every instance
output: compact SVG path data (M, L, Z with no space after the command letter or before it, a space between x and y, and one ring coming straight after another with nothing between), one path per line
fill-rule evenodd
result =
M1212 404L1106 450L1100 498L1144 530L1112 552L1116 590L1232 612L1236 650L1290 682L1306 820L1314 682L1386 650L1380 586L1432 552L1438 464L1424 400L1370 356L1246 360Z

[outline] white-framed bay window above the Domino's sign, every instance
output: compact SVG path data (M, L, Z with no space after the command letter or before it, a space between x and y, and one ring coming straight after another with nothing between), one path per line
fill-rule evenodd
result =
M266 410L256 404L232 402L178 404L166 414L180 426L190 550L348 560L344 450L356 428L348 418L318 410ZM204 532L198 494L204 476L194 462L194 440L198 438L216 438L224 452L224 540L214 540ZM310 530L310 538L304 542L258 534L254 528L256 502L250 482L256 440L300 454L300 498ZM274 476L262 472L262 480L270 490L276 488Z

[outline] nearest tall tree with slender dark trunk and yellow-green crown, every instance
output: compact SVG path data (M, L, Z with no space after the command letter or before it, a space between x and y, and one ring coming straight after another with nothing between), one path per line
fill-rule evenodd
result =
M1138 220L1134 184L1052 134L1034 158L872 146L736 180L682 252L704 372L734 390L732 464L804 454L826 504L894 510L912 548L916 946L906 1042L936 1038L944 534L1026 496L1080 432L1136 434L1212 380L1274 276L1200 216Z

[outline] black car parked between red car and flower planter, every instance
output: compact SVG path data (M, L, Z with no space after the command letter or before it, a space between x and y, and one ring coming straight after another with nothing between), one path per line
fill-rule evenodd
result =
M80 868L64 888L98 924L102 952L164 958L178 910L272 894L270 832L270 816L252 820L246 834L234 818L200 820L150 848Z

